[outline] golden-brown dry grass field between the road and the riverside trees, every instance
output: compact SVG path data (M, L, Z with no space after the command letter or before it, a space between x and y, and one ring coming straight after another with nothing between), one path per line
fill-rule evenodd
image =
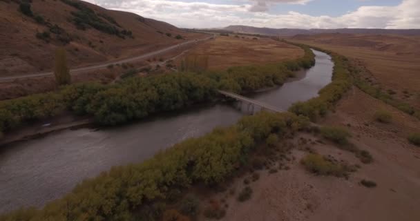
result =
M218 70L230 66L267 64L270 62L296 59L303 56L303 50L296 46L272 39L252 37L220 36L213 41L190 50L187 55L209 56L209 69Z

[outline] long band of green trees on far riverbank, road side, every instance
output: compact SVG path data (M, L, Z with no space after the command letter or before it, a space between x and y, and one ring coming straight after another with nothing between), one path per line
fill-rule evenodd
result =
M53 117L65 110L92 116L100 125L116 125L153 113L174 111L217 99L217 90L245 93L282 85L296 68L314 64L309 48L305 56L280 64L238 66L224 71L172 73L132 77L117 84L73 84L57 92L29 95L0 102L0 133L23 124Z

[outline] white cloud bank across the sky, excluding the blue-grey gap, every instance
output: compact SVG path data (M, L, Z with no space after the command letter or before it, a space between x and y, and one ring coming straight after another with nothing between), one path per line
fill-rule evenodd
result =
M278 3L305 4L311 0L236 0L216 4L169 0L88 0L105 8L124 10L185 28L246 25L268 28L420 28L420 1L403 0L398 6L362 6L338 17L311 16L290 11L269 13ZM231 2L231 1L227 1Z

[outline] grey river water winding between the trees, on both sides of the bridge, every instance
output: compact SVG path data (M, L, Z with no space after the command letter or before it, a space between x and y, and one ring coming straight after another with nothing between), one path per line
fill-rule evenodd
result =
M334 64L329 55L314 52L316 64L304 77L249 97L283 110L316 97L330 83ZM240 108L214 104L126 126L65 130L10 144L0 149L0 213L43 206L112 166L141 162L184 139L234 124L243 115Z

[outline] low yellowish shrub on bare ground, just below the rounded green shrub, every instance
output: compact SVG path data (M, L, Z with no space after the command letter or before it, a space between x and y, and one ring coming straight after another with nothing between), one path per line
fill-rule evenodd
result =
M344 166L338 165L316 153L309 153L300 162L307 171L316 173L316 175L334 175L336 177L347 175L347 170Z

